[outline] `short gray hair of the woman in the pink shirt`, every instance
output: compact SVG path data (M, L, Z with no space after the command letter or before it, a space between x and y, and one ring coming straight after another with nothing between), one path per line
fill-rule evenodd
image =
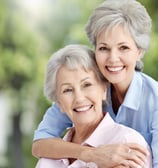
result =
M56 77L62 66L69 69L83 67L85 70L93 70L99 80L105 81L96 64L93 50L84 45L67 45L55 52L47 63L44 94L51 101L57 100Z

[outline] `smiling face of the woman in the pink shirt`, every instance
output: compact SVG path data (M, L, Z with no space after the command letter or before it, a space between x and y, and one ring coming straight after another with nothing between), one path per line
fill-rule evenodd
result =
M105 87L93 71L62 67L57 74L57 99L74 124L93 124L103 116Z

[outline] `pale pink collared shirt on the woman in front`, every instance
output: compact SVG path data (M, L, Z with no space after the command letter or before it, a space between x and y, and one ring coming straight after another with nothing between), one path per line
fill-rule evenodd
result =
M70 129L63 139L71 141L72 134L73 129ZM134 129L115 123L108 113L106 113L98 127L82 145L97 147L105 144L127 142L138 143L149 150L150 155L147 158L146 168L152 168L151 151L144 138ZM97 168L97 165L93 162L86 163L81 160L76 160L69 164L68 159L53 160L41 158L36 168Z

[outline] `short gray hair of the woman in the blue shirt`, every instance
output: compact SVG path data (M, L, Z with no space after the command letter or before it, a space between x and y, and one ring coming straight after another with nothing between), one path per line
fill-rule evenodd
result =
M123 25L144 53L150 46L151 18L145 7L136 0L106 0L98 6L86 25L86 34L93 45L97 36Z

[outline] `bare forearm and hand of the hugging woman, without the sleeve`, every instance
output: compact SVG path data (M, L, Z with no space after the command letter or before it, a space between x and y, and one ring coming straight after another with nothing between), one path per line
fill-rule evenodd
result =
M128 154L129 148L132 150L131 154ZM120 164L134 168L136 165L144 165L147 151L134 143L92 148L66 142L59 138L49 138L35 141L32 146L32 154L53 159L74 158L85 162L95 162L100 168L115 167Z

